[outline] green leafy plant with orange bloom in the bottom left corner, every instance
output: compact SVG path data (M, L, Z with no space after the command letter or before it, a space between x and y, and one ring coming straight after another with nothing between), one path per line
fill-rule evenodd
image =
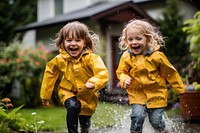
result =
M3 98L0 101L0 132L6 133L10 131L23 131L38 133L41 126L44 124L43 120L38 121L36 112L33 112L32 123L28 124L27 120L18 113L24 105L13 108L10 98Z

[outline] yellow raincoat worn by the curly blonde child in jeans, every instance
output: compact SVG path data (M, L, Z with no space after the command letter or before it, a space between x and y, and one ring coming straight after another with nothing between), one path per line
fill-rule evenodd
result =
M159 51L149 50L146 55L133 55L129 50L125 51L116 74L122 87L125 79L132 78L131 85L126 89L130 104L143 104L147 108L167 106L166 80L176 93L185 92L177 70Z

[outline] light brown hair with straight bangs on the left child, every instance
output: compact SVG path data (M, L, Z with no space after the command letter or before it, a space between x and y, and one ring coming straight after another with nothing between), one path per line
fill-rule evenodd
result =
M96 47L99 44L99 36L92 30L89 30L85 24L78 21L66 24L56 34L56 39L53 41L59 49L65 50L64 41L67 37L83 39L85 41L86 48L93 52L96 51Z

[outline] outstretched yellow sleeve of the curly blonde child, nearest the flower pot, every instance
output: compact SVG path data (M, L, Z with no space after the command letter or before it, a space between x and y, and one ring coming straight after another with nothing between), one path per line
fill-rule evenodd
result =
M168 61L167 57L160 52L161 65L160 70L162 75L167 79L170 85L175 89L177 94L182 94L185 92L185 87L181 76L174 66Z

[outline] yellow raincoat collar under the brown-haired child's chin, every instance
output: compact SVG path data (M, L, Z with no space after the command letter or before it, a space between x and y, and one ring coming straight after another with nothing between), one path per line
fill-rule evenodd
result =
M69 59L69 60L79 60L84 54L88 54L90 53L90 50L88 50L87 48L83 49L83 51L81 52L81 55L79 56L78 59L75 59L73 57L71 57L65 50L60 49L59 50L61 56L65 59Z

